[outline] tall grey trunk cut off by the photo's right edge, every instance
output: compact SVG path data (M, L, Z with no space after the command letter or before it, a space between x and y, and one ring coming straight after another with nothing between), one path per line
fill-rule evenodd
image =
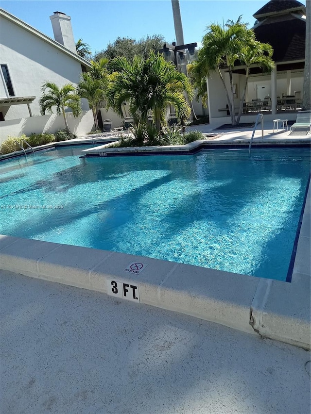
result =
M303 82L302 107L304 110L311 110L311 0L306 0L306 53L305 53L305 70Z

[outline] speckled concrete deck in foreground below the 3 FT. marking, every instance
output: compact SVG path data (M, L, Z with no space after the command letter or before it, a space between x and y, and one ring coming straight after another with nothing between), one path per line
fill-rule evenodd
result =
M1 413L310 413L301 348L6 271L0 292Z

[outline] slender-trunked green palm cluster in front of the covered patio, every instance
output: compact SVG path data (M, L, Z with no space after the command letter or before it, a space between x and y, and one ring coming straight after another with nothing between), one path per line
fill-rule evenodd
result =
M194 68L192 70L198 79L209 77L211 72L219 74L225 89L232 125L237 125L240 121L249 67L258 65L271 70L274 66L271 59L272 53L273 50L270 45L256 41L253 30L247 29L246 24L241 22L241 16L235 23L228 21L223 26L214 23L207 27L207 34L203 37L202 49L198 52L198 60L193 64ZM246 78L238 119L235 116L233 91L233 70L237 62L246 66ZM222 72L224 67L229 72L229 88L226 86Z

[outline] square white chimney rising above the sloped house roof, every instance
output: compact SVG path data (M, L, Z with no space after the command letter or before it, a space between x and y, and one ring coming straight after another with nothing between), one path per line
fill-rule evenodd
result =
M61 43L65 48L77 53L70 16L67 16L62 12L54 12L52 16L50 16L50 19L52 21L52 29L56 42Z

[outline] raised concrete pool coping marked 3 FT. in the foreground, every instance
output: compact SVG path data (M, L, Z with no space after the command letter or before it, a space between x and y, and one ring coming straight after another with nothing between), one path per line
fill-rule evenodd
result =
M290 283L6 235L0 235L0 268L111 296L111 281L126 283L125 290L138 288L140 303L311 349L310 211L309 182ZM132 263L143 270L130 273Z

